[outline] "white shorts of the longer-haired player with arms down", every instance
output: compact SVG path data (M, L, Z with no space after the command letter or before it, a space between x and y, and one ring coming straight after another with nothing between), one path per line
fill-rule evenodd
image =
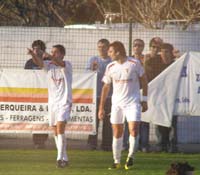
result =
M140 121L141 105L136 103L130 106L112 106L110 122L112 124L123 124L125 121Z

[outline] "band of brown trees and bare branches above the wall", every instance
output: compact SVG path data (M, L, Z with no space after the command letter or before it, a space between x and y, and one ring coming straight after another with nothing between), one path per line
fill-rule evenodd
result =
M199 0L0 0L0 25L64 26L138 22L158 28L163 20L200 20Z

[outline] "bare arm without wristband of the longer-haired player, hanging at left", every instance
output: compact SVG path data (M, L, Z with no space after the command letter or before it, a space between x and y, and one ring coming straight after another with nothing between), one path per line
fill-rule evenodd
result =
M104 114L105 114L104 105L105 105L106 98L108 96L109 91L110 91L110 84L104 84L101 91L101 100L100 100L99 112L98 112L98 117L100 120L104 118Z

